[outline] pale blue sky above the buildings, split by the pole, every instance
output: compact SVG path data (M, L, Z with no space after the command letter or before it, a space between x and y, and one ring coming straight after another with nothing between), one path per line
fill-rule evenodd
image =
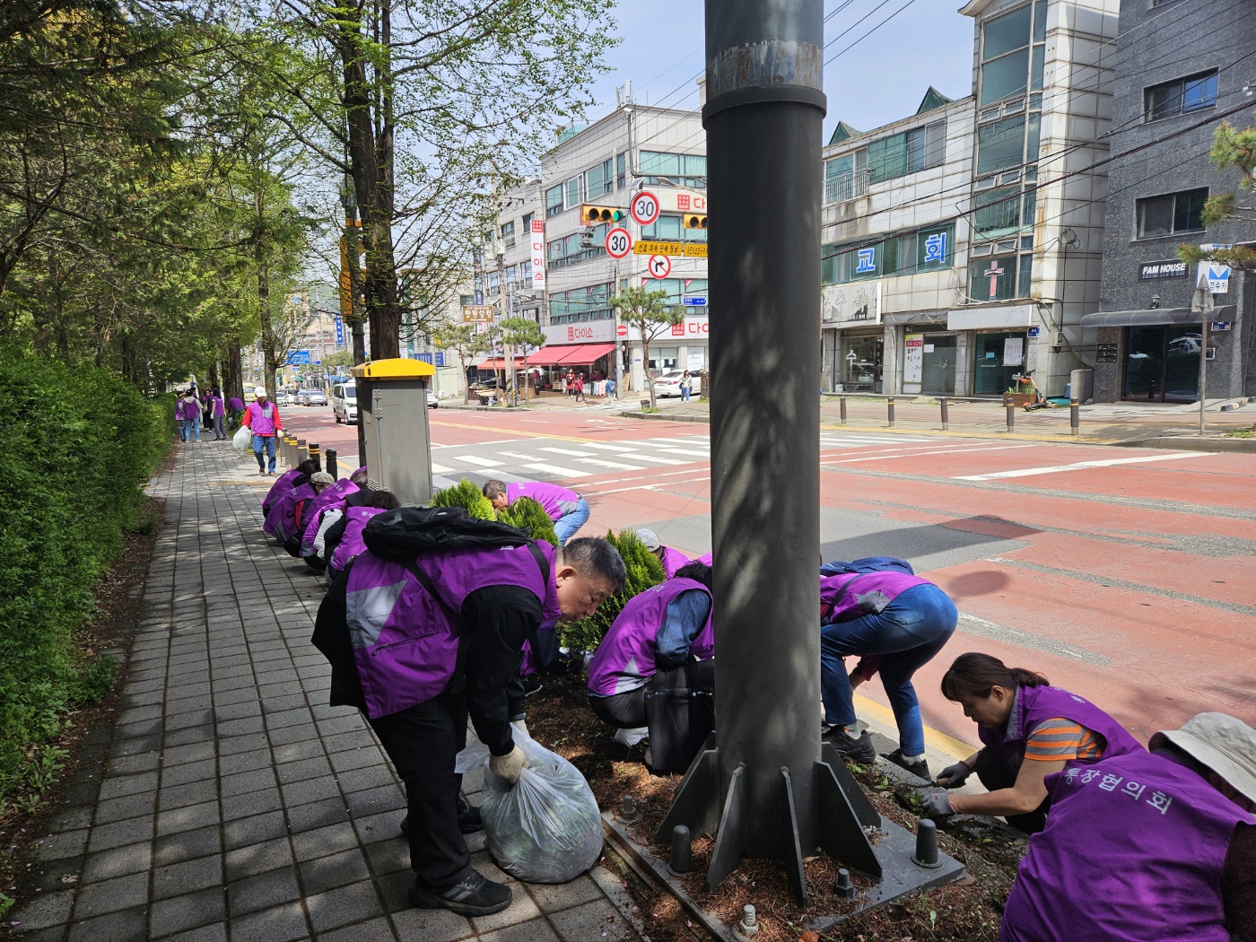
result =
M957 0L824 0L824 69L829 113L824 139L842 119L870 131L916 113L929 85L948 98L972 89L972 20ZM882 20L902 10L862 39ZM701 0L622 0L614 18L623 41L607 54L610 70L594 88L597 119L615 107L615 87L632 79L643 104L697 108L703 65ZM859 40L855 43L855 40ZM849 50L845 46L855 43Z

